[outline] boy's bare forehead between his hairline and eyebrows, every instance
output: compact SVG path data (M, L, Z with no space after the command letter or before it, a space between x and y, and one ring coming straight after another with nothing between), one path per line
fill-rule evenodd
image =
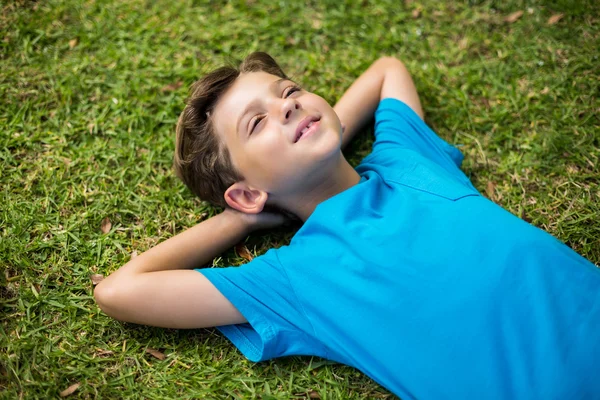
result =
M215 106L216 125L224 131L235 132L244 110L269 94L280 81L280 77L263 71L240 74Z

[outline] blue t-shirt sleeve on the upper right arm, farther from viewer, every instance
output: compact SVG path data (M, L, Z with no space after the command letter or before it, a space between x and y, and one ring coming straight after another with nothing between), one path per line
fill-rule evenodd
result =
M460 172L463 160L460 150L436 135L408 105L394 98L381 100L375 111L373 152L387 153L388 149L414 150L452 173Z

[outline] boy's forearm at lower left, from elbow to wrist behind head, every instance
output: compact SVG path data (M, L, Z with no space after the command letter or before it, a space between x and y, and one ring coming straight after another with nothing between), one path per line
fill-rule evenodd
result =
M236 212L223 212L160 243L117 272L145 273L191 269L210 262L249 233Z

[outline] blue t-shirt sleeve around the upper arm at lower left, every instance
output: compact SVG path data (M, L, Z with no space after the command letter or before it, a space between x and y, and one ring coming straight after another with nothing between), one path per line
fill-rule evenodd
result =
M276 250L240 267L202 273L248 323L217 327L251 361L288 355L324 356Z

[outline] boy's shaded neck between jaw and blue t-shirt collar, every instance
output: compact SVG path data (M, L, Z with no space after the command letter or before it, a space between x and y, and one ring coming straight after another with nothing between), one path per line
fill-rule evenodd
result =
M309 189L300 195L291 195L279 199L278 203L292 213L302 222L315 211L317 205L323 201L351 188L360 181L360 175L352 168L340 152L330 168L320 168L319 172L312 175Z

